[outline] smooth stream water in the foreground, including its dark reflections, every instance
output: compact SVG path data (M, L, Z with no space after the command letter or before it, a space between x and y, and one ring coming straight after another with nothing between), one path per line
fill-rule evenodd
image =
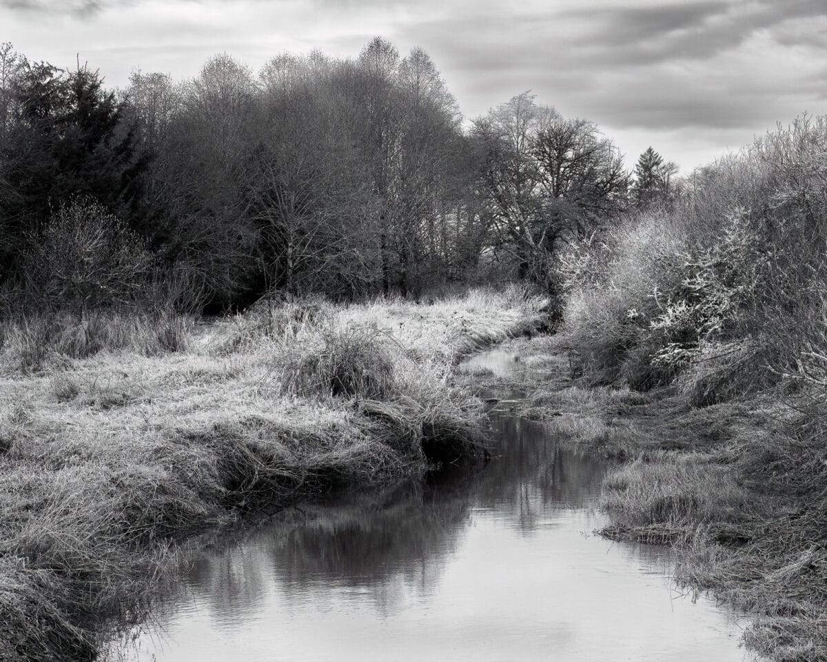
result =
M477 359L479 361L479 359ZM592 531L605 463L492 414L485 469L290 509L199 553L128 660L745 660L670 553Z

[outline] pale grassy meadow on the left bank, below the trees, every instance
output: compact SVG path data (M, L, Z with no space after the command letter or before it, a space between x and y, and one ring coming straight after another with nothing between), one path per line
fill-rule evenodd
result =
M88 659L140 618L176 542L333 487L480 453L452 384L540 302L260 302L209 324L93 314L0 327L0 659Z

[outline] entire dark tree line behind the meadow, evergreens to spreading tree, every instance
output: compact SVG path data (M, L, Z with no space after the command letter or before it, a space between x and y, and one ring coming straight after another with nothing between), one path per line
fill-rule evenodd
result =
M554 294L560 252L668 204L675 175L651 148L630 173L593 122L528 93L465 124L428 54L380 37L353 59L285 53L256 74L216 55L117 90L0 47L0 288L30 305L506 276Z

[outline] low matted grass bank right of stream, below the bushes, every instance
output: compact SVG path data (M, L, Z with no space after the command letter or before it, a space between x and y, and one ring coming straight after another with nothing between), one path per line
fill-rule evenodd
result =
M785 432L794 410L771 396L692 407L675 388L592 386L563 337L506 343L528 368L522 413L565 444L623 463L601 506L615 540L671 544L676 581L748 610L750 650L771 660L827 656L823 450ZM491 378L491 381L497 381Z

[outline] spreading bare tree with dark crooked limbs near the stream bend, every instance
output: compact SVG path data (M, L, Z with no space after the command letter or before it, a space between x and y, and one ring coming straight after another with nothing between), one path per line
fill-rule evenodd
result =
M562 118L528 93L476 120L473 136L496 250L514 258L519 276L559 294L556 252L624 207L628 177L619 151L592 122Z

